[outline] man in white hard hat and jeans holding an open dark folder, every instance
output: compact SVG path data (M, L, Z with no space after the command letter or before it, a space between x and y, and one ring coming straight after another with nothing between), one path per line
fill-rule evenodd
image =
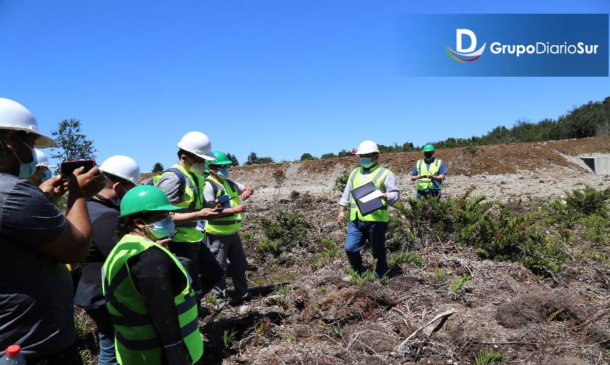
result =
M371 140L365 140L356 151L361 166L354 168L350 178L345 184L343 196L339 201L339 214L337 222L343 223L343 209L350 208L350 223L347 225L347 238L345 239L345 254L356 273L361 274L365 268L361 252L366 240L371 244L373 257L377 259L375 276L380 279L387 274L387 253L385 248L385 234L389 221L387 207L400 199L398 186L394 173L379 165L379 148ZM382 192L384 207L363 216L351 191L355 188L373 182L377 190ZM346 278L347 279L347 278Z

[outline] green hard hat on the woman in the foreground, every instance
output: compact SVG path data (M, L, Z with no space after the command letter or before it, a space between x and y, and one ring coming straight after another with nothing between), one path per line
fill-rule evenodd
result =
M140 185L129 190L121 200L121 216L130 216L141 212L154 212L163 210L178 210L169 203L167 195L159 188L151 185Z

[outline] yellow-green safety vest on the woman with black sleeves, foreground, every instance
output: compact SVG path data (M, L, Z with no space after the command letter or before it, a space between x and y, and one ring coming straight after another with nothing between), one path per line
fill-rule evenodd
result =
M132 235L123 236L108 255L101 271L106 307L114 329L117 330L114 336L117 360L122 365L162 363L162 344L127 267L127 260L130 257L139 255L151 247L167 253L184 274L186 286L174 298L174 304L178 312L182 339L191 360L196 362L204 353L204 340L199 332L197 301L195 292L191 288L191 279L184 266L167 249L147 238Z

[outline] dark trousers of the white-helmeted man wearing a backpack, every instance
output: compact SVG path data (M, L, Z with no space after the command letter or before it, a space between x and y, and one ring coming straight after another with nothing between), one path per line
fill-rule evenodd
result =
M193 290L199 299L214 288L223 277L223 270L204 242L169 242L169 251L179 258L185 258L182 264L193 279ZM183 261L183 260L181 260Z

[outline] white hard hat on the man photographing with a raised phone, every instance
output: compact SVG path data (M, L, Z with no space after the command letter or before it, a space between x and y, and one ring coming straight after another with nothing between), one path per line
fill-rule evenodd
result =
M10 99L0 98L0 129L37 134L38 138L34 142L34 147L39 149L56 145L53 139L40 134L38 122L33 114L25 106Z

